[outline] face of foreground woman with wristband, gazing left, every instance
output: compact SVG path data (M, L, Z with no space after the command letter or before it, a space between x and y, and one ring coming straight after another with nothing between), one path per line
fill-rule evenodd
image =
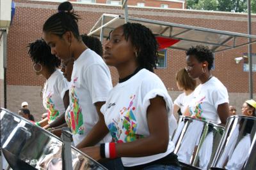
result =
M121 26L111 32L104 48L103 59L109 66L121 67L129 62L136 62L135 52L130 38L128 41L125 40L124 30Z

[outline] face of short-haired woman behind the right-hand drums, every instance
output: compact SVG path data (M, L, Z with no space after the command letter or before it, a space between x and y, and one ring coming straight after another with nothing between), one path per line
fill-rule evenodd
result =
M186 63L187 63L186 70L188 71L188 75L191 78L196 79L202 76L202 74L204 74L202 71L203 62L199 62L196 59L195 55L188 55L186 57Z

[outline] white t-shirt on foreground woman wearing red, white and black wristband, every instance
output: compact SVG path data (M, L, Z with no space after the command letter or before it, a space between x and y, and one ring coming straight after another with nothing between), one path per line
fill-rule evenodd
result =
M113 141L118 143L136 141L149 136L147 108L150 105L150 99L156 96L164 98L168 110L170 133L168 149L165 153L148 157L122 157L124 166L147 164L173 152L174 144L171 136L177 123L172 114L172 99L156 74L147 69L141 69L129 80L118 83L109 93L106 104L101 108Z

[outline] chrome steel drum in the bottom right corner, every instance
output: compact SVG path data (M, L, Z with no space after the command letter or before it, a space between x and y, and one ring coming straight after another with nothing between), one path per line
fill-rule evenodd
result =
M225 134L211 167L222 169L256 169L256 118L232 116L228 118Z

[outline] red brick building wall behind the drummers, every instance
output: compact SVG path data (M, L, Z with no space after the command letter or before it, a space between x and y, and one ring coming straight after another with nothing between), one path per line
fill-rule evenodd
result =
M36 76L33 72L32 62L28 57L26 46L29 42L43 36L42 25L49 16L56 12L58 3L28 0L15 0L15 3L15 16L8 32L7 108L17 111L20 103L27 101L31 113L39 118L40 114L45 111L40 97L40 90L45 80L42 76ZM83 18L79 20L80 33L88 33L102 13L124 13L120 6L107 4L74 3L74 10ZM239 13L129 6L129 15L223 31L247 32L247 16ZM252 34L256 34L255 15L252 16ZM255 47L253 45L253 53L256 53ZM216 53L214 71L212 71L212 74L218 77L227 87L230 104L235 105L238 111L240 111L243 101L249 97L248 72L243 69L243 61L236 64L234 58L241 57L247 52L247 47L243 46ZM166 53L163 60L164 64L155 72L163 80L172 99L175 99L180 94L176 87L175 73L186 65L185 52L169 49L164 53ZM255 62L255 58L253 60ZM116 84L118 76L116 70L112 67L111 74L113 84ZM253 80L253 92L255 92L255 73L253 73Z

